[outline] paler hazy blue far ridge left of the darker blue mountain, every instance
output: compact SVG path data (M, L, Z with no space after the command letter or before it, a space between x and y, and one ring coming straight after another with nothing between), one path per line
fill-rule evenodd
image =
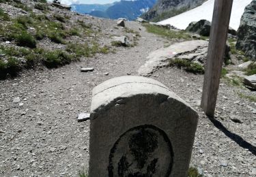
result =
M113 3L108 4L72 4L72 11L79 12L80 14L89 14L92 11L105 11Z

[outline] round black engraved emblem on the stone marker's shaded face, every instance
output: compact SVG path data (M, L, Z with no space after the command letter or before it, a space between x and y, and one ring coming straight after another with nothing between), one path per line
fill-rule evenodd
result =
M173 150L166 133L153 125L129 129L109 155L109 177L168 177Z

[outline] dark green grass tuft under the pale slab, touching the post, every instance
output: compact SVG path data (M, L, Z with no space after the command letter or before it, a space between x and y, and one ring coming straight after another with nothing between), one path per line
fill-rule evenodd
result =
M203 66L188 61L186 59L170 59L169 66L176 66L178 68L183 68L185 71L188 71L193 74L204 74Z

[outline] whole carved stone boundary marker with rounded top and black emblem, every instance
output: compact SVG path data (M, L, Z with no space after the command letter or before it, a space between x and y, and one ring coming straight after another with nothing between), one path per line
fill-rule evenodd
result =
M96 86L89 177L186 177L198 114L167 86L124 76Z

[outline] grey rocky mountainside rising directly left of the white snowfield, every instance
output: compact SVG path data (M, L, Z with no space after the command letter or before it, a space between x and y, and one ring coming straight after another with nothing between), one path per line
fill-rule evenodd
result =
M158 0L154 7L141 17L158 22L201 5L206 0Z

